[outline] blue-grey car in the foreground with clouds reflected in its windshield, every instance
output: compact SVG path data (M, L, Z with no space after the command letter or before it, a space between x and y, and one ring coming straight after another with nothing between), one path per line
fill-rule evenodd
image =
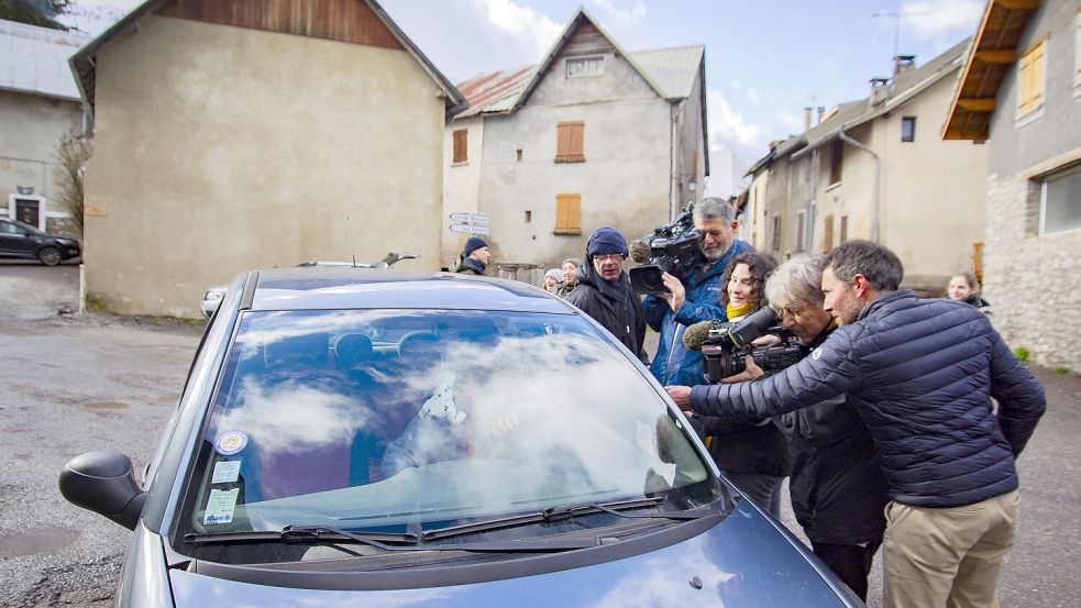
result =
M156 454L60 473L133 531L118 606L862 606L638 358L522 283L251 272Z

